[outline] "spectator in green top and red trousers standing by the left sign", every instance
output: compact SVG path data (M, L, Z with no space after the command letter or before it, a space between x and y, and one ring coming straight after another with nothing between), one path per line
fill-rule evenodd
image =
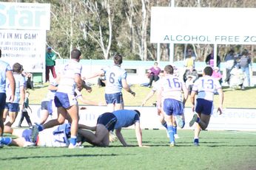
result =
M46 82L50 81L50 79L49 79L50 71L52 72L54 79L57 77L56 73L55 73L55 67L54 67L55 66L55 60L56 60L55 53L52 52L51 47L48 47L47 48L47 53L45 54L45 63L46 63L46 68L45 68L46 79L45 79L45 81Z

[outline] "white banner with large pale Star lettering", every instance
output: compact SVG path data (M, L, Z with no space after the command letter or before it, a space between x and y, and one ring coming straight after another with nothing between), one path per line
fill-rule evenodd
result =
M0 2L0 29L50 30L50 4Z

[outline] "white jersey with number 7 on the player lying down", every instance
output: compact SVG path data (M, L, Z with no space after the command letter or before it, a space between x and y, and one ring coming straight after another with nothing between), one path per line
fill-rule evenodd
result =
M45 147L67 147L70 141L67 138L66 130L70 124L61 124L58 127L43 130L38 133L38 146Z

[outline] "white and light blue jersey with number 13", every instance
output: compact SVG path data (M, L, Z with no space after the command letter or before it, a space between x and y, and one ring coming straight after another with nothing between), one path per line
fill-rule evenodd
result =
M204 76L195 81L192 91L198 91L198 99L213 101L214 93L219 88L221 88L221 85L217 79L210 76Z

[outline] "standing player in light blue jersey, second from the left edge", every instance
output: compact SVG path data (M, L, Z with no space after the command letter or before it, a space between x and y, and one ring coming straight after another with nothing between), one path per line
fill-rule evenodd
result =
M5 123L5 126L11 127L16 117L18 115L18 111L24 109L24 100L25 100L25 77L22 76L23 67L19 63L13 64L13 77L15 79L16 90L15 90L15 97L13 102L9 102L10 96L13 93L12 89L10 89L10 82L7 81L6 84L6 105L4 108L4 121L6 120L7 116L9 116L9 121ZM19 107L19 103L21 103L21 108Z

